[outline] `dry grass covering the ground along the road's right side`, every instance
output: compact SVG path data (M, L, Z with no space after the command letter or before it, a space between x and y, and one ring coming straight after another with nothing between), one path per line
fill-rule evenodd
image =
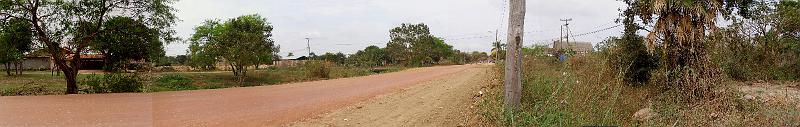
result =
M564 63L543 57L526 58L524 63L522 109L508 112L502 108L502 70L498 67L489 96L481 104L486 122L495 126L800 126L800 97L753 95L794 92L747 93L740 89L746 83L726 81L688 103L683 100L686 95L680 95L685 93L662 91L659 83L622 83L618 71L609 70L601 58L591 54ZM798 85L780 88L800 91L794 87ZM648 121L634 120L633 114L643 108L652 108L657 114Z

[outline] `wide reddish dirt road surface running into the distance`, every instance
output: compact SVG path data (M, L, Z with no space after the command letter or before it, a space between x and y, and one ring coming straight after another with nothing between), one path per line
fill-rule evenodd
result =
M0 97L0 127L280 126L475 66L247 88Z

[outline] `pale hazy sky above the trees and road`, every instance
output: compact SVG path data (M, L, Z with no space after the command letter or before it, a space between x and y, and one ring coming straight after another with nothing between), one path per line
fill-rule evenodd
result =
M525 45L550 43L559 36L559 19L572 18L573 34L591 32L616 24L616 0L528 0ZM273 39L281 55L312 51L354 53L369 45L384 47L389 30L402 23L425 23L431 32L462 51L489 51L500 29L505 39L508 0L181 0L175 8L182 20L178 36L188 38L193 28L208 19L228 19L260 14L272 23ZM501 26L502 25L502 26ZM576 37L599 42L616 36L622 28ZM167 46L167 55L185 54L188 44Z

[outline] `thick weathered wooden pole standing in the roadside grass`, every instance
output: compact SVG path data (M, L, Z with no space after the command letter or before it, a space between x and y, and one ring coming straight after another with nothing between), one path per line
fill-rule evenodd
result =
M506 108L519 109L522 98L522 37L525 31L525 0L510 0L508 47L505 67Z

